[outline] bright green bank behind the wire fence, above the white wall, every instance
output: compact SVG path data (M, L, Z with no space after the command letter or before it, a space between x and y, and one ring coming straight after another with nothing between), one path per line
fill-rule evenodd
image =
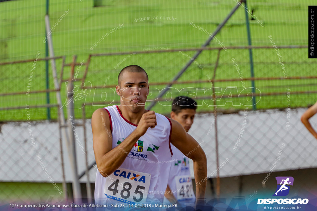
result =
M308 5L313 5L313 1L248 1L248 7L253 10L253 14L263 22L264 27L260 27L256 21L250 20L250 32L252 45L272 46L268 35L276 45L307 45L308 41ZM72 61L72 55L78 55L77 61L82 59L86 62L88 55L92 53L128 52L143 51L150 47L165 47L171 49L199 47L207 39L208 35L189 25L190 22L212 32L217 25L229 14L235 6L235 2L226 1L101 1L103 6L92 7L93 1L50 1L49 14L51 27L69 9L69 13L58 23L52 33L54 50L56 56L65 55L66 63ZM0 3L0 62L34 59L36 53L41 52L40 58L45 57L45 44L42 42L45 36L44 29L45 3L35 0L29 1L9 1ZM166 16L176 20L148 20L135 22L136 18ZM90 46L94 44L103 34L111 29L124 24L114 33L109 34L92 51ZM217 34L217 38L226 47L246 46L247 34L245 26L245 13L243 8L239 8L230 18L227 24ZM211 47L219 45L212 41ZM184 52L189 56L194 55L194 51ZM313 59L308 58L307 49L279 49L283 62L287 69L287 76L312 76L316 75L317 65ZM155 82L170 81L177 72L188 62L188 58L178 52L135 54L127 58L117 69L116 66L129 54L92 57L87 74L87 81L93 86L103 86L107 80L107 85L116 84L118 72L130 64L142 66L150 77L150 84ZM179 81L208 80L208 76L213 76L217 51L204 51L197 58L204 69L201 70L196 64L192 64L188 70L179 78ZM220 54L219 65L216 72L216 79L238 78L232 58L236 58L238 66L243 73L243 78L250 77L249 51L248 50L228 50ZM283 77L281 65L274 49L254 49L254 75L255 77ZM56 61L58 73L61 71L61 59ZM0 82L2 88L0 93L26 92L28 78L32 62L19 63L13 65L0 65ZM77 68L77 67L76 67ZM75 68L75 70L76 70ZM79 70L79 78L83 75L85 67ZM31 82L31 90L44 90L45 85L45 62L38 61L36 70ZM70 67L64 68L64 79L69 78ZM207 76L208 75L208 76ZM49 87L53 89L53 78L51 65L49 63ZM78 82L76 82L78 83ZM246 86L251 86L249 81L245 81ZM221 96L228 96L230 93L224 92L228 86L237 86L238 92L242 90L240 81L217 82L216 87L222 88ZM316 91L315 79L297 80L260 80L255 82L257 89L262 94L286 92L289 87L294 91ZM164 85L155 86L159 90ZM178 90L184 87L210 88L210 83L201 84L177 84L173 85ZM228 91L228 90L227 90ZM93 102L95 90L87 96L86 102ZM62 100L66 100L66 88L62 84ZM156 93L157 94L157 93ZM186 93L181 93L186 94ZM177 91L173 96L178 95ZM100 96L96 94L95 96ZM198 97L206 96L199 92ZM119 100L119 97L110 94L107 96L111 101ZM292 107L306 107L315 102L317 94L292 95ZM50 102L56 103L55 93L50 93ZM223 100L223 99L222 99ZM262 96L257 109L285 108L287 107L285 95ZM239 99L233 99L234 104ZM246 102L246 99L240 99ZM94 100L96 102L96 98ZM207 100L205 100L207 102ZM26 96L25 94L15 96L1 96L1 107L16 107L26 105L44 105L46 94L37 93ZM75 102L75 107L80 108L83 101ZM162 103L168 105L169 102ZM198 104L203 104L198 100ZM211 103L210 103L211 104ZM230 109L230 104L221 106L221 109ZM87 106L86 117L91 117L92 112L98 106ZM234 106L241 109L243 106ZM170 106L156 105L153 110L160 113L169 113ZM199 106L198 111L212 111L207 104ZM57 116L57 109L51 109L52 118ZM75 110L77 118L81 116L81 110ZM32 120L46 119L46 108L30 109ZM1 121L26 120L26 112L23 109L0 111Z

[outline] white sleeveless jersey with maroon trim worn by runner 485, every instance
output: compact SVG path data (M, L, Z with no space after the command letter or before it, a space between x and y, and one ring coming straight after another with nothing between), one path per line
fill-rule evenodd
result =
M117 105L106 108L110 118L112 148L129 136L137 125L126 120ZM162 203L167 187L172 150L171 121L155 113L157 125L148 128L122 163L109 177L97 170L95 202L99 204Z

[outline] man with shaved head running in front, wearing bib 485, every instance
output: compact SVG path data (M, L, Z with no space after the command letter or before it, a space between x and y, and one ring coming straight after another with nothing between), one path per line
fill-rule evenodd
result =
M144 109L148 92L146 72L129 65L118 76L120 105L97 109L92 115L97 203L118 203L126 208L135 203L161 204L169 172L162 163L171 160L170 143L183 154L198 146L177 121ZM198 147L188 157L193 160L195 180L201 184L196 187L196 197L203 199L206 155Z

